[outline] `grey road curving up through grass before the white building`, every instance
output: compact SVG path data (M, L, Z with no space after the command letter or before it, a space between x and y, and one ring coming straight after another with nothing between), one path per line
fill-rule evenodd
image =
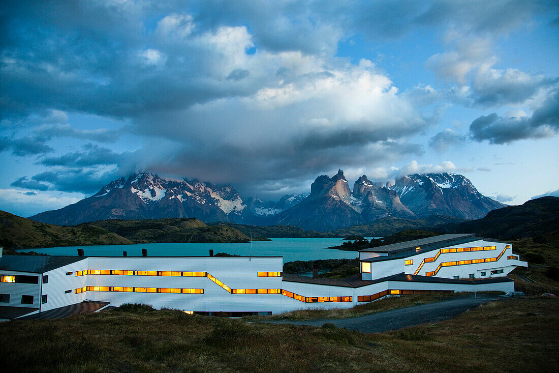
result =
M315 327L320 327L324 323L332 323L338 328L347 328L362 333L378 333L451 319L467 310L471 310L481 304L495 300L496 298L496 296L484 294L481 297L478 296L477 299L471 296L468 298L429 303L342 320L319 319L309 321L282 320L267 322L272 324L313 325Z

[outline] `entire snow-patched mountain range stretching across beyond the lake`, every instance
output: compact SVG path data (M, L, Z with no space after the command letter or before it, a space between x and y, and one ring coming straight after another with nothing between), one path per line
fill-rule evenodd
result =
M203 222L293 225L328 231L381 218L421 219L432 215L481 218L504 204L485 197L470 180L448 172L414 174L382 184L361 176L353 192L343 171L321 175L310 194L285 195L278 202L243 198L229 185L170 179L142 172L103 186L91 197L31 220L75 225L109 219L196 217Z

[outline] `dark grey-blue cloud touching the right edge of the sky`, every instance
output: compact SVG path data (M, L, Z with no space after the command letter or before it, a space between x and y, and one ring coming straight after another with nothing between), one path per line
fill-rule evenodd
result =
M532 116L505 118L492 113L473 120L470 133L476 141L503 144L519 139L553 136L559 130L559 90L550 92Z

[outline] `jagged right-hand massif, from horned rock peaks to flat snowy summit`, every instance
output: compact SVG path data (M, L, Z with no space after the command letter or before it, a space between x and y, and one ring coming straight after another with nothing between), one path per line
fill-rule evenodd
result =
M447 215L474 219L503 206L479 193L470 180L458 174L410 175L396 180L395 185L383 185L363 175L351 192L343 171L339 170L332 178L316 178L309 197L272 220L325 231L388 216L417 219Z

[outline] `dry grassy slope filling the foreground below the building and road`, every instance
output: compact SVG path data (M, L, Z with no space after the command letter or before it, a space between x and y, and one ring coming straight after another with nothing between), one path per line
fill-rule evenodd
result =
M3 370L557 371L558 299L496 301L395 332L133 310L0 324Z

